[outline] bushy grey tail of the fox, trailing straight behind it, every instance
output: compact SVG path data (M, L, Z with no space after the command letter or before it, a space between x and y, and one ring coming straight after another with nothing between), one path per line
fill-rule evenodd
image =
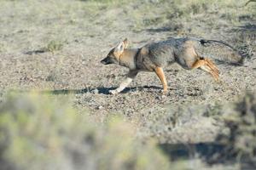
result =
M230 44L206 39L199 39L198 42L200 42L201 48L195 48L195 50L201 57L212 58L233 65L243 65L244 57Z

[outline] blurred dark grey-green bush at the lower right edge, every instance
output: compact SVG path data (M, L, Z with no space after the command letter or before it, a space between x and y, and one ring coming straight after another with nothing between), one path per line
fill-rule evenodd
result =
M229 105L224 113L227 135L220 135L218 142L225 144L224 156L256 161L256 94L247 93L236 104Z

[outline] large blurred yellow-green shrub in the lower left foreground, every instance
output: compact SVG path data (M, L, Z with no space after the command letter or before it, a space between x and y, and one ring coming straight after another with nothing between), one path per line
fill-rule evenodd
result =
M65 99L9 95L0 106L1 169L169 169L154 142L142 144L134 130L119 117L96 125Z

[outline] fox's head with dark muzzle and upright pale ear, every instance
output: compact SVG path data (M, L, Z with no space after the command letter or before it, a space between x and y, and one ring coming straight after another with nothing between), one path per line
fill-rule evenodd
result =
M101 63L103 65L109 64L119 64L120 56L124 53L124 50L128 47L128 40L125 38L124 41L119 42L119 44L110 50L107 57L102 59Z

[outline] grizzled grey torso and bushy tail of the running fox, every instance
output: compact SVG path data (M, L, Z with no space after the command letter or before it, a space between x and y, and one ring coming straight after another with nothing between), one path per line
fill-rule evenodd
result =
M216 40L204 40L197 38L170 38L162 42L153 42L143 47L144 51L148 51L150 59L144 59L147 65L151 63L160 67L170 65L177 62L185 69L190 69L190 63L194 63L196 59L210 58L221 60L227 63L240 64L242 57L225 42ZM187 54L188 48L194 48L197 58L191 54ZM192 50L192 49L191 49Z

